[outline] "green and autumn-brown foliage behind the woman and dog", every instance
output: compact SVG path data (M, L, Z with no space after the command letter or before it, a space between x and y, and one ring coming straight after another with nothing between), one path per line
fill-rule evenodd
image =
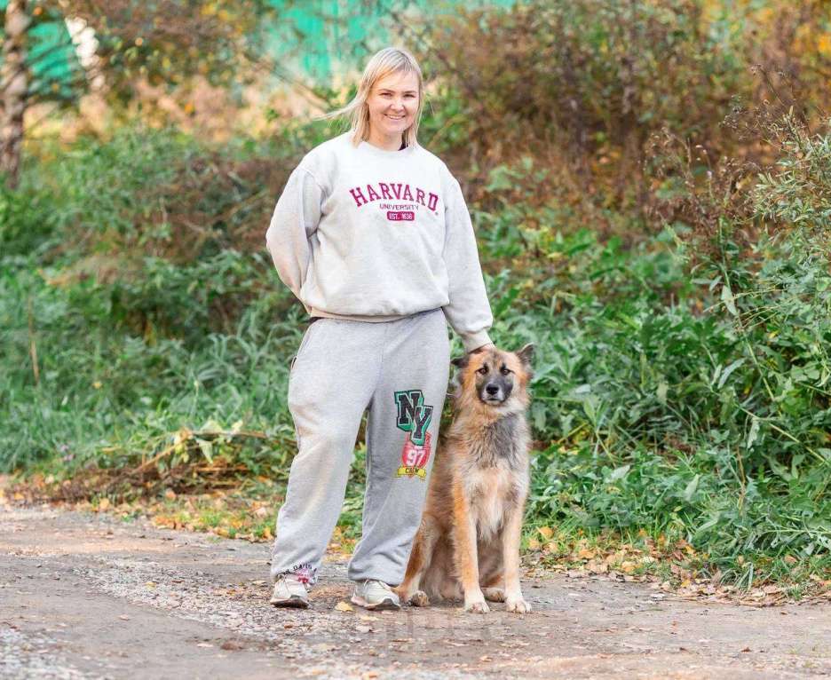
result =
M210 26L233 36L257 16L240 7ZM827 585L827 3L376 10L422 59L422 143L463 180L495 340L538 348L528 550L681 584ZM0 467L51 497L233 489L275 508L305 318L265 226L337 131L298 101L328 110L353 90L236 96L271 67L230 41L234 70L200 66L198 47L178 69L175 35L158 40L181 78L154 81L162 50L79 91L0 193ZM226 531L272 525L265 511Z

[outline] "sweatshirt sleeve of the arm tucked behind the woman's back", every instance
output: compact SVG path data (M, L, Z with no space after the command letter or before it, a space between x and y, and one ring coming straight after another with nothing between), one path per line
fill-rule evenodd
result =
M265 232L277 273L297 297L305 281L311 257L309 237L321 219L322 201L323 191L313 174L298 167L289 176Z

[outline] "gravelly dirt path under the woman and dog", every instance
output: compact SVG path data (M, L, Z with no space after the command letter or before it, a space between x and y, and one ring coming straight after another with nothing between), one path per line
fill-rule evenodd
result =
M742 678L831 674L831 605L688 602L644 584L525 581L534 613L266 604L263 544L0 506L0 677Z

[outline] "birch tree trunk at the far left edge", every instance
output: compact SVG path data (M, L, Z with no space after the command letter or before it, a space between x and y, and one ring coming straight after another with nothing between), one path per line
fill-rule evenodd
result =
M0 70L0 174L15 188L20 172L20 147L23 143L23 115L26 113L28 72L26 35L31 19L28 0L9 0L5 12L3 67Z

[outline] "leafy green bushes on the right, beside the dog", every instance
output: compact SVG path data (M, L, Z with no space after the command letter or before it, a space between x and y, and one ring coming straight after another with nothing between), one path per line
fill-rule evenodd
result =
M633 248L563 231L546 202L476 214L499 264L493 335L539 347L539 523L680 535L747 583L796 558L827 570L831 157L827 133L771 123L780 156L760 175L707 172L682 146L661 178L666 231ZM517 186L491 186L494 204Z

